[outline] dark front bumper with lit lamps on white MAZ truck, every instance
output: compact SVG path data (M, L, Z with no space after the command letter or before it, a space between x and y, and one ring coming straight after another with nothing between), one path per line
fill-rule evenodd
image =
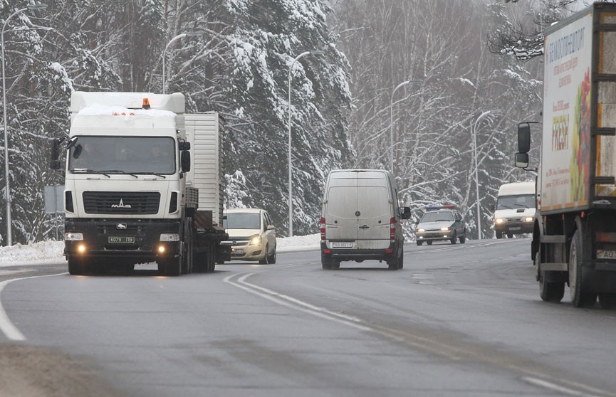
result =
M81 235L65 239L64 255L80 258L125 258L132 263L177 257L182 242L161 241L161 234L181 236L179 221L135 219L68 219L66 233Z

